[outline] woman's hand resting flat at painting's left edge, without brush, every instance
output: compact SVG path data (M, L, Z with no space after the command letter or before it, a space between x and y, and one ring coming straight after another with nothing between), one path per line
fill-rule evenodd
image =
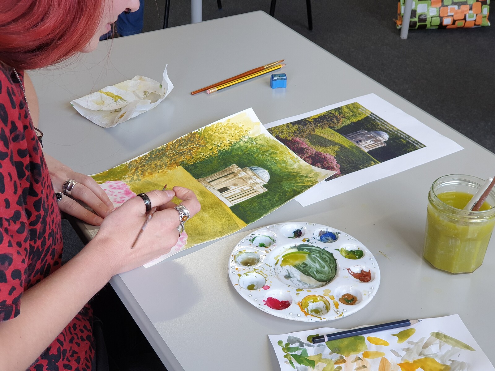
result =
M45 160L47 161L48 171L55 192L62 192L62 185L67 179L73 179L79 182L72 188L72 197L66 196L62 192L62 199L58 201L60 210L81 219L83 222L99 226L103 222L103 218L113 210L113 204L105 191L101 189L93 178L76 173L53 157L45 154ZM76 200L83 201L98 215L84 208Z

